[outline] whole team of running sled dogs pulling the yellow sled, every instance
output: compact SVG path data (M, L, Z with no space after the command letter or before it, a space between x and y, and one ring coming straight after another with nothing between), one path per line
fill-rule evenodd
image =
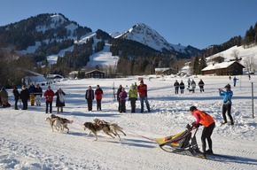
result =
M74 120L67 120L65 118L58 117L55 114L51 114L51 116L47 117L45 121L48 121L50 123L52 132L54 132L54 128L57 131L64 131L64 129L66 128L67 133L69 132L69 128L67 127L68 124L72 124L74 122ZM100 131L103 131L106 135L109 135L112 138L114 138L114 136L117 135L120 141L121 136L118 134L118 132L121 132L123 135L126 135L123 132L123 128L121 128L118 124L109 123L105 120L95 119L93 122L85 122L83 124L83 128L84 130L88 129L90 131L87 136L89 136L91 133L95 135L95 141L97 141L97 133Z

